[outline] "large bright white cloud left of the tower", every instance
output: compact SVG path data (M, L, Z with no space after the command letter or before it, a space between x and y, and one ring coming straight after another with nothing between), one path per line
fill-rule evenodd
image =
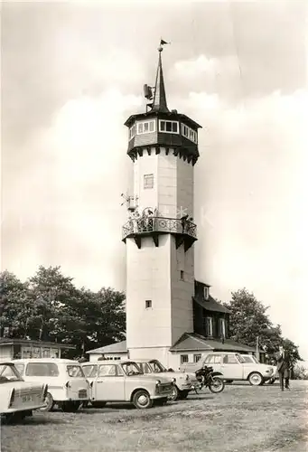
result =
M123 284L120 193L130 174L123 123L140 103L117 89L71 99L51 127L23 143L37 159L5 186L3 267L27 278L40 264L61 264L78 284Z

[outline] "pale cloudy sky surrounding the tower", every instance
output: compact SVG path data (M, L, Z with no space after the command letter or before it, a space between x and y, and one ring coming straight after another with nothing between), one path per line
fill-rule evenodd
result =
M131 114L157 46L169 108L203 127L195 277L247 287L308 360L307 4L2 4L1 268L125 290Z

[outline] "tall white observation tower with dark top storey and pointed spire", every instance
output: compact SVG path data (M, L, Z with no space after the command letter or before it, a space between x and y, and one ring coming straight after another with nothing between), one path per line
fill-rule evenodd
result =
M126 242L126 344L131 359L173 365L170 347L193 332L193 165L199 126L167 108L159 49L147 111L126 120L127 154L134 163L135 212L123 227Z

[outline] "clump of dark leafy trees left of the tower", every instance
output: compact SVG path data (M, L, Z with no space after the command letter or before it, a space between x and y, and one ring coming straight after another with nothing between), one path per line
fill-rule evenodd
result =
M110 287L76 288L60 267L41 266L25 283L5 271L0 274L1 333L9 329L14 338L74 344L79 355L125 338L124 301L124 293Z

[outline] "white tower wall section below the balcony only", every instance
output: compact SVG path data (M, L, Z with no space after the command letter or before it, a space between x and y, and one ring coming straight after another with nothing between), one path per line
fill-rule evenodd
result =
M182 334L193 332L193 250L176 250L169 234L126 240L126 341L134 348L171 347ZM181 280L181 270L184 280ZM152 307L145 307L145 300Z

